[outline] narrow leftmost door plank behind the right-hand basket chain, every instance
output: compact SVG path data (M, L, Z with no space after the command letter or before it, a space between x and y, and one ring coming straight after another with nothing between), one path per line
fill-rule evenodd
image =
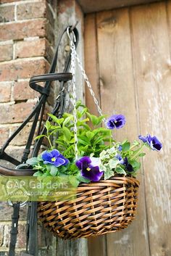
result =
M90 14L85 17L85 32L84 32L84 44L85 44L85 68L88 79L91 82L93 91L96 98L100 102L99 97L99 70L98 70L98 52L96 42L96 15ZM98 115L96 106L93 102L93 98L90 91L86 87L86 106L91 110L94 115ZM105 256L106 239L105 236L99 238L88 239L88 255L96 256L102 254Z

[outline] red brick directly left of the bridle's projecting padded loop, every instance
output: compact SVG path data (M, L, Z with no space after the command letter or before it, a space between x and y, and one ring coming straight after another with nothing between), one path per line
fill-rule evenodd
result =
M25 99L35 99L38 92L30 88L28 81L14 83L14 101L24 101Z

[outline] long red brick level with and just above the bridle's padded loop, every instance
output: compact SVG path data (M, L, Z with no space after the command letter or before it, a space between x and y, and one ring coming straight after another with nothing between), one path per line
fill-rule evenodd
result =
M46 59L17 59L6 64L0 63L0 79L3 81L31 78L33 75L46 73L47 67L48 62Z

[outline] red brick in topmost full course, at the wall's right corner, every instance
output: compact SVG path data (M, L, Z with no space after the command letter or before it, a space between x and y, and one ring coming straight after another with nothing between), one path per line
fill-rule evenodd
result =
M17 5L17 20L40 18L40 17L45 17L45 15L46 15L45 1Z

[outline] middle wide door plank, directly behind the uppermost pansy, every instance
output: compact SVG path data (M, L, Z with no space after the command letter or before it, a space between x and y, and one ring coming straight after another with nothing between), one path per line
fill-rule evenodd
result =
M133 60L128 9L100 12L97 15L101 106L109 115L122 113L127 125L114 133L122 141L138 135L138 109L135 101ZM107 235L107 255L148 256L143 179L137 220L125 231ZM102 254L101 254L102 255Z

